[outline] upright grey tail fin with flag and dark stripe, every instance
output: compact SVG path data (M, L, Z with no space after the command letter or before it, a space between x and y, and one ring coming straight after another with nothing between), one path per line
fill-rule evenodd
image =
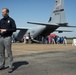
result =
M64 0L55 0L53 13L48 22L58 23L58 24L66 23L65 11L64 11Z

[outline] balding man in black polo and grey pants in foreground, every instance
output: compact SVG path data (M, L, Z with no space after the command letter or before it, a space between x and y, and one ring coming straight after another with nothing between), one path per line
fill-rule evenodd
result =
M0 20L0 70L5 69L5 49L7 50L9 69L11 73L14 69L12 56L12 34L16 31L15 21L9 17L9 9L2 9L3 18Z

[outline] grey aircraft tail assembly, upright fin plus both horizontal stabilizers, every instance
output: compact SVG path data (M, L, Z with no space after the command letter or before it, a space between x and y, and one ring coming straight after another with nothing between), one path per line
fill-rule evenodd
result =
M38 22L27 22L29 24L44 25L44 26L57 26L57 27L73 27L68 26L65 17L64 0L55 0L55 6L53 9L52 16L49 18L48 23L38 23Z

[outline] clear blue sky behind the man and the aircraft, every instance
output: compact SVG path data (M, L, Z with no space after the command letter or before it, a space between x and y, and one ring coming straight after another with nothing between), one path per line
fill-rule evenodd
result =
M76 26L76 0L65 1L66 21ZM0 0L0 18L2 8L10 10L10 16L15 20L17 27L32 28L37 25L27 24L28 21L45 22L52 15L55 0ZM76 28L58 28L71 30L71 33L56 33L59 36L76 37Z

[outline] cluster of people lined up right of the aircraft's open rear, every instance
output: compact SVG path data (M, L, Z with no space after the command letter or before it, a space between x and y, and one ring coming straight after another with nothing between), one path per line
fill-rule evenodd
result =
M67 45L67 38L66 37L51 37L48 36L46 38L42 37L42 43L45 44L66 44Z

